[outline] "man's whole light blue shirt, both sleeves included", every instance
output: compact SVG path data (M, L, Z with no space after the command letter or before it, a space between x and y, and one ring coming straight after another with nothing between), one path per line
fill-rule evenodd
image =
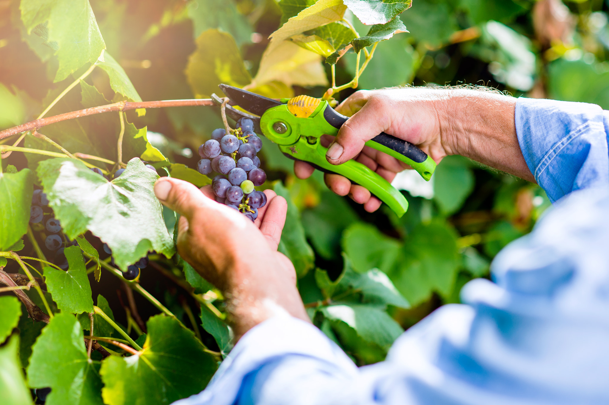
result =
M179 405L609 404L609 111L518 99L524 158L555 206L473 280L463 304L357 368L287 315L248 331ZM560 200L560 201L559 201Z

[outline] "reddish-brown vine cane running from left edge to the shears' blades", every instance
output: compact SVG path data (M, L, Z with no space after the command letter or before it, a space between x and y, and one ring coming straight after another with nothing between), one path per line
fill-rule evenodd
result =
M48 118L40 118L33 120L22 125L13 126L7 130L0 131L0 139L20 134L26 131L38 130L46 125L57 123L65 120L71 120L75 118L92 116L94 114L102 114L103 112L110 111L127 111L130 109L138 108L164 108L164 107L183 107L183 106L213 106L214 103L211 99L190 99L190 100L160 100L152 102L118 102L107 105L100 105L92 108L80 109L78 111L66 112L65 114L59 114Z

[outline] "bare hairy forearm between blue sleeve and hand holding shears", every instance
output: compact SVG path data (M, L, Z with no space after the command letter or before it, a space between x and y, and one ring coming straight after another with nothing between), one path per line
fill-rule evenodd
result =
M535 182L516 136L516 100L494 92L451 89L438 109L446 153Z

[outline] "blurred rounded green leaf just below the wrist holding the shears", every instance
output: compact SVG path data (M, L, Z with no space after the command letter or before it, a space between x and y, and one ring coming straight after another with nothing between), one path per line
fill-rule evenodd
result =
M474 173L462 156L446 156L435 169L434 200L444 215L457 212L474 189Z

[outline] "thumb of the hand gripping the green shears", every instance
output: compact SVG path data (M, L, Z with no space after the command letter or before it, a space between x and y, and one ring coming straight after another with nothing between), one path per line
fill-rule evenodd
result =
M362 151L366 141L389 128L386 111L375 100L370 99L361 110L343 123L326 152L328 162L339 165L353 159Z

